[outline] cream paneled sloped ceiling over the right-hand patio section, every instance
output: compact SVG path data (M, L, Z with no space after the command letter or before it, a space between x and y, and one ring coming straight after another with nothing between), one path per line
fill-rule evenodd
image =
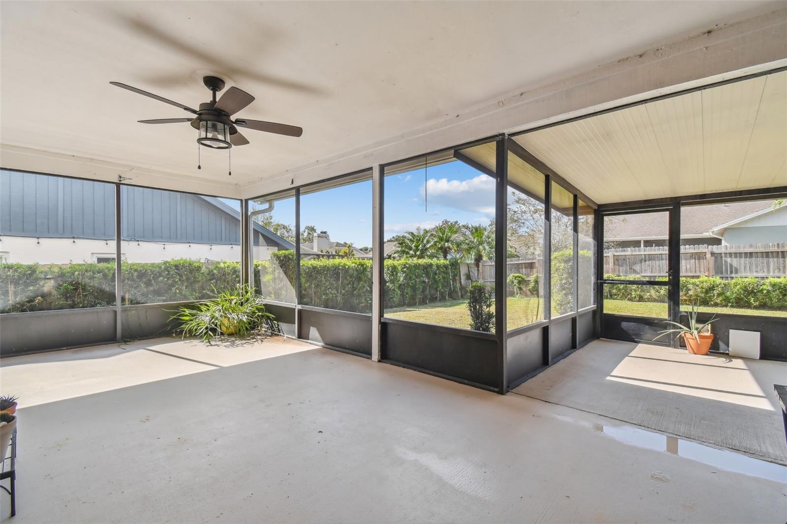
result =
M599 204L787 186L787 71L515 140Z

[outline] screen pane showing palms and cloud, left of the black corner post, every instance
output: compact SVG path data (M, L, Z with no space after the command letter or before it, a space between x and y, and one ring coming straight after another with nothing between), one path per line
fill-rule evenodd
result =
M494 293L494 162L487 142L384 169L386 317L493 330L483 315L473 323L467 288L481 282L479 297Z

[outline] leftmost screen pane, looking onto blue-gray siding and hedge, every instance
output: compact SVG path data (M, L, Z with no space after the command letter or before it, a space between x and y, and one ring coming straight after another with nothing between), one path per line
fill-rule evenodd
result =
M0 235L24 260L0 266L0 313L114 305L114 260L92 256L114 234L113 184L0 171Z

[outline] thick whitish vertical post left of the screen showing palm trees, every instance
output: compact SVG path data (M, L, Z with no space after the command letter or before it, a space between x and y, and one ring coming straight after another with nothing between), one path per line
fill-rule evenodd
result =
M371 168L371 360L380 361L382 318L382 168Z

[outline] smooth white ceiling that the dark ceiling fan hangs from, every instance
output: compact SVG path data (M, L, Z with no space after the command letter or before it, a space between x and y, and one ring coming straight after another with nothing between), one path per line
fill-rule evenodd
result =
M2 2L0 142L249 185L784 2ZM188 116L212 73L257 100L205 151ZM338 174L338 173L336 173ZM184 187L187 189L187 187Z

